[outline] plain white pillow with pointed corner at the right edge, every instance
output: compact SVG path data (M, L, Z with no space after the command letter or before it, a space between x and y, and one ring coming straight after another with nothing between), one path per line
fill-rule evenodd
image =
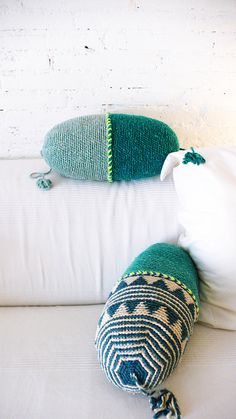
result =
M236 330L236 148L196 150L205 164L182 164L185 153L167 157L163 180L173 169L183 232L200 273L200 318L209 326Z

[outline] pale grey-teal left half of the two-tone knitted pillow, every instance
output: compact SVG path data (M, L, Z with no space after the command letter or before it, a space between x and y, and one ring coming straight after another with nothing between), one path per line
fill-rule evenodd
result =
M46 135L42 156L62 176L107 179L105 115L88 115L55 125Z

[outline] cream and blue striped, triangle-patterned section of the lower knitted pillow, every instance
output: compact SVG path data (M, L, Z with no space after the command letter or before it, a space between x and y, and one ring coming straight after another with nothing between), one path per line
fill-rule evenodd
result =
M148 393L178 365L198 318L196 299L162 273L123 277L100 317L95 345L116 386Z

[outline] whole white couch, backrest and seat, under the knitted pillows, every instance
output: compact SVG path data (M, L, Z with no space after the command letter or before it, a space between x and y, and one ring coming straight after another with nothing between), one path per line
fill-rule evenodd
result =
M0 419L151 418L109 383L94 348L114 281L148 245L176 242L172 180L73 181L41 159L0 161ZM236 417L236 332L195 326L165 383L187 419Z

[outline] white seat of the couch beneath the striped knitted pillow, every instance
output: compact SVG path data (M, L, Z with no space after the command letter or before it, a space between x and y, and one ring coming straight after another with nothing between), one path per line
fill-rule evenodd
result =
M0 308L0 417L144 419L148 400L107 381L94 335L102 305ZM196 325L165 383L183 419L233 419L236 332Z

